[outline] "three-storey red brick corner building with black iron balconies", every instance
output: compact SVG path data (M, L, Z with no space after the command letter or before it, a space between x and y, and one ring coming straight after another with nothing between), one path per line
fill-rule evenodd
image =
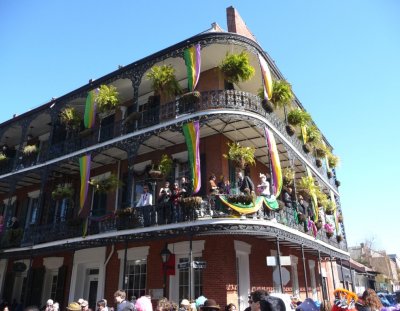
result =
M316 300L331 296L339 280L334 266L349 258L335 170L307 152L297 137L301 130L288 133L288 108L263 109L260 59L273 80L283 76L236 10L227 12L227 32L214 24L0 125L4 299L42 306L52 298L65 306L83 297L94 307L101 298L113 301L114 291L123 288L129 298L150 294L154 300L180 301L204 295L244 310L249 292L261 288ZM184 56L193 46L201 51L199 93L194 99L157 96L148 73L171 65L185 89ZM255 73L233 86L219 65L227 53L241 52ZM91 96L103 85L117 89L120 105L95 113ZM304 110L297 98L290 106ZM74 108L81 122L67 123L66 108ZM192 151L183 132L193 122L200 135L196 194ZM246 175L258 185L266 174L276 185L266 129L275 138L280 169L294 172L294 182L286 185L294 188L291 202L280 202L282 192L277 208L263 203L253 213L240 212L256 206L256 199L229 201L239 196L238 169L223 155L228 143L254 147L256 165L246 167ZM322 143L332 150L325 138ZM172 169L155 176L162 155L172 160ZM231 197L225 201L212 189L213 174L230 180ZM182 177L189 180L187 193L168 202L159 195L166 180L184 188ZM305 192L314 212L300 217L296 185L306 177L331 200L329 213Z

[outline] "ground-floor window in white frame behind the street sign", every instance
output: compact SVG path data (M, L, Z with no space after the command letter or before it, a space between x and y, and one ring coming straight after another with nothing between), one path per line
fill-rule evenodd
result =
M194 257L196 261L202 261L201 257ZM179 263L189 262L189 258L180 258ZM189 268L180 269L179 271L179 301L189 297ZM201 269L193 271L194 297L199 297L203 292L203 273Z

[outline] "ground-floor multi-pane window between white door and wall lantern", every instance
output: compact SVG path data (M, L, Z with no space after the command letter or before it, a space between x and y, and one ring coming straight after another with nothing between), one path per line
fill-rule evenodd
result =
M137 298L144 296L146 294L147 261L145 259L128 261L126 278L128 279L127 299L131 299L132 296Z

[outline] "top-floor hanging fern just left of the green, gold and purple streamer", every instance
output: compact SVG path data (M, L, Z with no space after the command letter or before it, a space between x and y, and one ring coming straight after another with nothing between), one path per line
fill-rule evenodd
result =
M146 78L151 81L151 88L158 95L173 97L182 93L172 65L153 66Z

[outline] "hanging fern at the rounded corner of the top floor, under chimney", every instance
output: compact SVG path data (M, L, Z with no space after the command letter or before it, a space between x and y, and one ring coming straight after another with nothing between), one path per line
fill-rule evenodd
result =
M243 51L240 54L227 53L219 65L225 79L231 83L250 80L254 76L254 67L250 65L249 55Z

